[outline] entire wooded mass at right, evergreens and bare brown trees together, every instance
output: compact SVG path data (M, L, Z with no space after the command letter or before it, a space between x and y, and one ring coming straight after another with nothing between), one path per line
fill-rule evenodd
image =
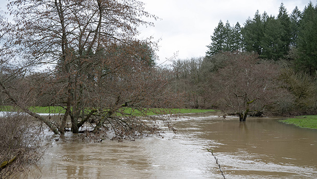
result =
M317 7L260 14L243 27L220 20L206 57L175 60L174 88L185 106L218 108L244 121L263 114L314 114Z

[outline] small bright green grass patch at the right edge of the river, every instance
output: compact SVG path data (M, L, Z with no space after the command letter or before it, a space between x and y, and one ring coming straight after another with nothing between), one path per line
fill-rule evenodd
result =
M296 118L281 120L281 122L293 124L302 128L317 129L317 115L299 116Z

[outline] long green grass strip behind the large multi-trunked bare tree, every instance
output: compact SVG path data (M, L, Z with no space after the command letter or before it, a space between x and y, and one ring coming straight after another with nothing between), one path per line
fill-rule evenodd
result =
M63 114L65 113L65 109L60 107L60 106L47 106L47 107L42 107L42 106L33 106L29 108L31 111L34 113L42 113L42 114ZM12 106L1 106L2 111L16 111ZM122 108L124 113L131 113L132 108L125 107ZM88 110L89 111L89 110ZM150 110L147 110L146 115L155 115L155 114L186 114L186 113L206 113L209 111L215 111L213 109L157 109L157 108L152 108ZM140 115L142 112L140 110L134 109L133 110L134 115Z

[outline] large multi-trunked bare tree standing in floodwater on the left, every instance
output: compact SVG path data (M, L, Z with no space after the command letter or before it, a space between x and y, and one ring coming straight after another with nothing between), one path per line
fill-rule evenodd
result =
M15 45L23 71L49 65L40 75L43 83L33 80L33 86L40 86L41 95L50 94L49 105L65 112L53 123L22 105L7 83L1 83L3 92L54 133L63 134L70 118L73 133L95 122L95 133L105 127L118 137L142 134L153 125L135 118L133 111L146 114L145 107L166 107L173 97L166 90L167 79L153 67L155 44L135 38L139 26L152 25L142 17L156 18L143 10L143 3L16 0L8 8L15 21L8 47Z

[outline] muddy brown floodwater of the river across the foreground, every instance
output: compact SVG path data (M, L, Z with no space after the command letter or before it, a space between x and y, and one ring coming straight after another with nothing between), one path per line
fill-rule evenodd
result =
M183 115L162 137L102 143L52 140L41 178L317 178L317 130L280 118ZM75 140L75 139L74 139Z

